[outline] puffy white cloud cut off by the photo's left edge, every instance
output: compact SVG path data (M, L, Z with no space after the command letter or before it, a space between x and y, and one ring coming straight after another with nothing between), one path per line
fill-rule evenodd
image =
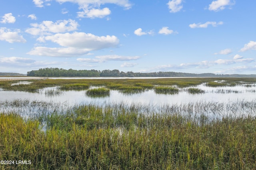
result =
M26 40L23 38L23 36L19 35L20 30L11 31L10 29L7 29L5 27L0 28L0 40L6 41L9 43L14 42L21 42L25 43Z

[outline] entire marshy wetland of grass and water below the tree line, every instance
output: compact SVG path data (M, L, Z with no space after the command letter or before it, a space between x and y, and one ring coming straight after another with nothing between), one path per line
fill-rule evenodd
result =
M256 78L0 81L2 168L254 169Z

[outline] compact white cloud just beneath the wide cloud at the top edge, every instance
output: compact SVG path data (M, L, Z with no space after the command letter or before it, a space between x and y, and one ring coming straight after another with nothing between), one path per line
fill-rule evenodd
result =
M84 10L83 12L78 12L78 17L81 18L104 18L111 13L109 8Z

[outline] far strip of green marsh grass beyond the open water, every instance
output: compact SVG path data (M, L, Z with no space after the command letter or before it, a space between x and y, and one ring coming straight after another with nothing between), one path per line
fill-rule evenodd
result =
M4 90L38 92L45 87L60 86L62 89L87 89L88 86L105 86L118 90L124 86L142 87L143 90L154 89L154 86L177 86L180 88L194 87L202 83L210 87L236 86L241 84L251 85L256 83L255 78L240 77L208 77L208 78L160 78L160 79L46 79L30 80L29 85L14 85L15 81L0 81L0 88ZM223 81L223 82L222 82Z

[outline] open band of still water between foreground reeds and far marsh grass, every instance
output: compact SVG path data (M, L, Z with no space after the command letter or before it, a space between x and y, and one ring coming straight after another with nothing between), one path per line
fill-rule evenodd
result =
M91 87L94 88L94 87ZM96 103L104 105L108 103L137 103L143 105L180 105L196 102L220 102L256 100L256 84L250 86L237 85L234 87L207 87L205 84L196 88L202 89L205 93L190 94L186 88L179 89L178 94L166 95L156 94L154 90L147 90L142 93L124 94L120 91L110 90L110 95L106 97L89 97L86 90L82 91L59 91L58 87L47 87L38 93L28 93L22 91L4 91L0 89L0 102L13 101L15 99L28 99L30 101L46 101L61 103L65 105L80 105L84 103ZM58 91L55 95L49 95L47 91Z

